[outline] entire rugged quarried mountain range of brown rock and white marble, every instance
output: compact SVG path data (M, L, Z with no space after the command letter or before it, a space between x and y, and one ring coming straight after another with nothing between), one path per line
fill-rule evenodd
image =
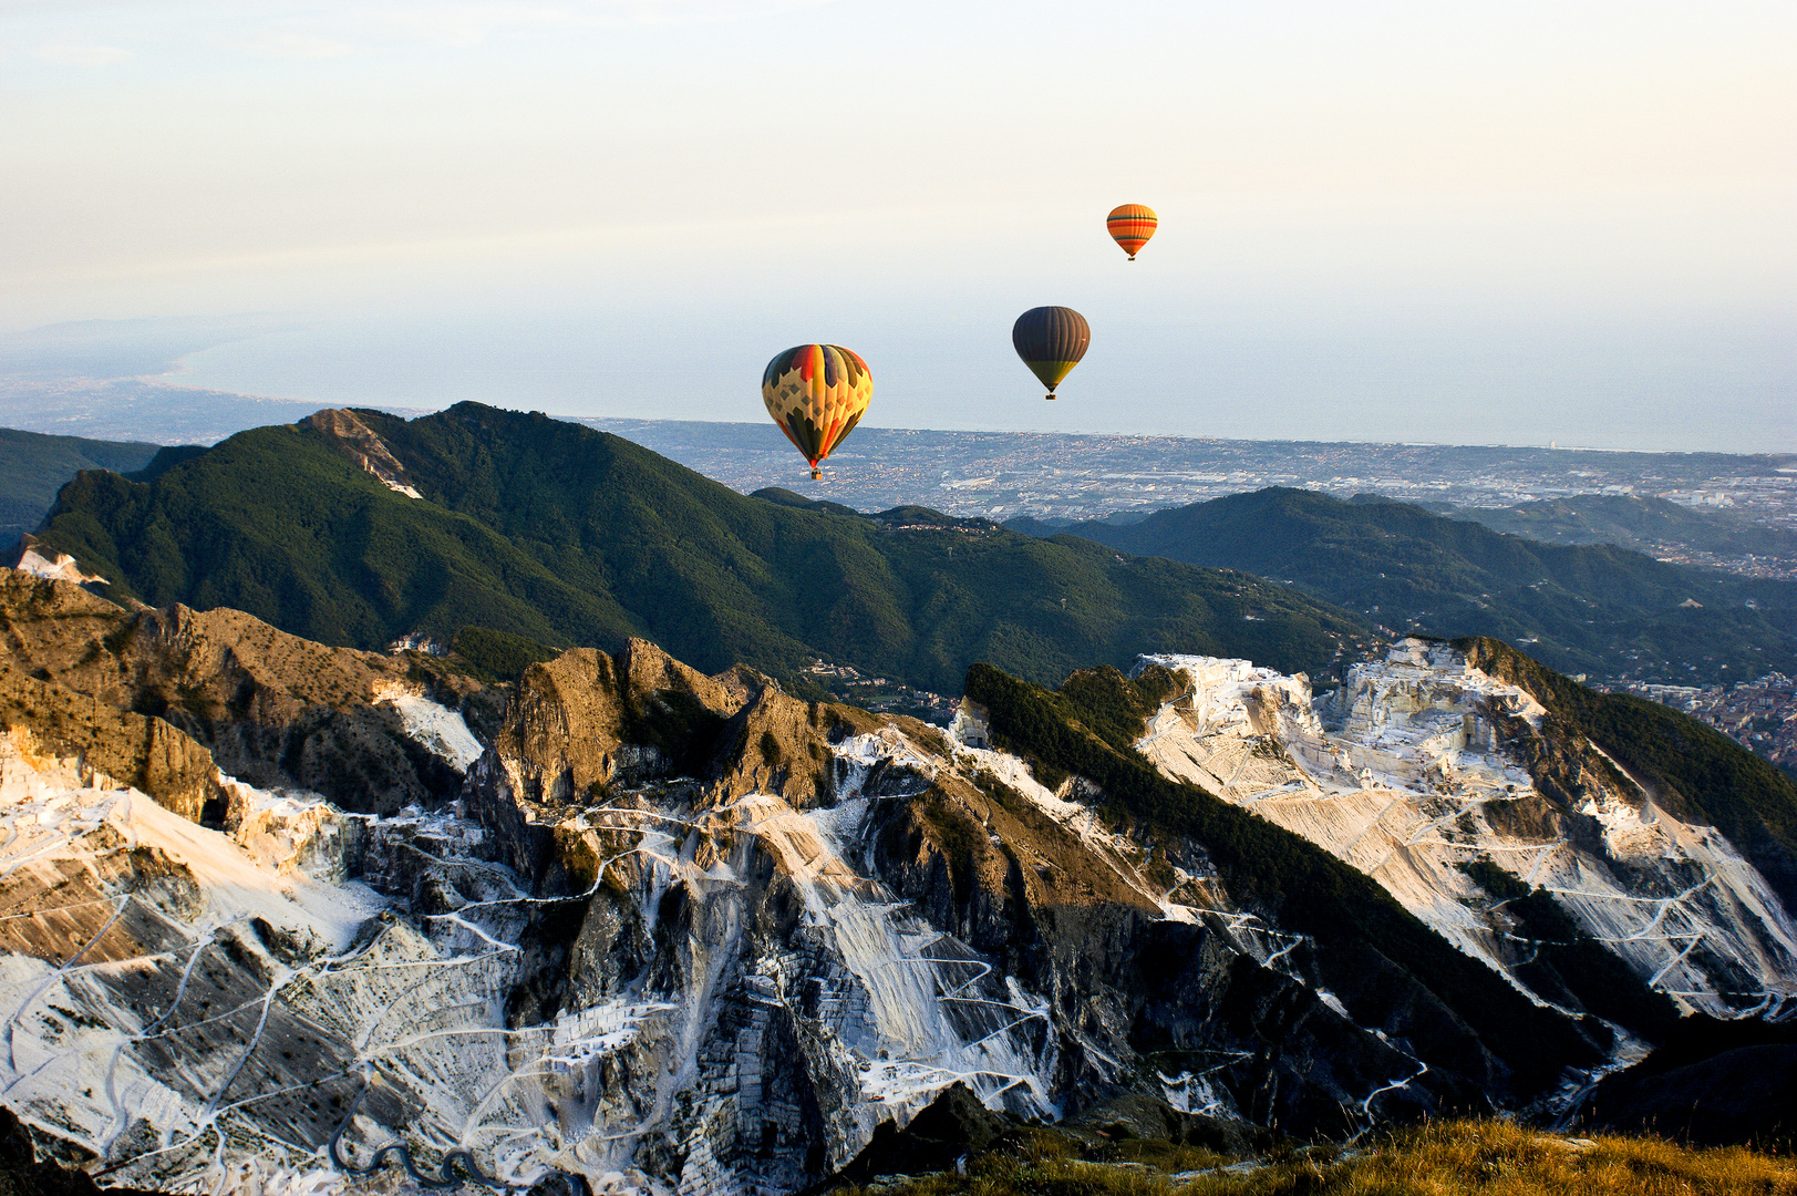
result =
M976 667L945 732L640 638L500 687L16 572L0 617L0 1101L102 1185L773 1194L1031 1122L1560 1117L1797 982L1777 843L1481 644L1328 694Z

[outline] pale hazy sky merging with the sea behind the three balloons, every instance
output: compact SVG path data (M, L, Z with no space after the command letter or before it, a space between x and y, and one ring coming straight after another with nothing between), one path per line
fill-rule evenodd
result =
M873 424L1797 450L1797 5L1116 9L0 0L0 349L740 419L832 340Z

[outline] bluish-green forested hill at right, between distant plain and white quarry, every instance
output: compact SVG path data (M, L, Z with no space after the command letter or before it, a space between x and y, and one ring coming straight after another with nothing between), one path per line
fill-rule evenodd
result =
M1797 583L1536 543L1411 504L1272 487L1062 532L1287 579L1396 631L1524 644L1567 673L1691 683L1797 669Z

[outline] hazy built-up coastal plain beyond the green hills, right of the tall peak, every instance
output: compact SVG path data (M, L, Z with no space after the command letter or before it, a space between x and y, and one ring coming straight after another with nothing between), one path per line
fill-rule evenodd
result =
M1797 532L1797 455L1617 453L1587 448L1211 441L1170 435L859 428L812 482L778 430L758 423L579 419L751 493L778 486L857 511L916 504L947 514L1044 522L1127 520L1224 495L1296 486L1384 495L1432 511L1513 507L1572 495L1666 498ZM1684 543L1653 556L1768 577L1784 554L1720 556Z

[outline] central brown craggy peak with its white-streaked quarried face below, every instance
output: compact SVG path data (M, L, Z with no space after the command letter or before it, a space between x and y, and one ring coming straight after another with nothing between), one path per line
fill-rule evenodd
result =
M1414 984L1393 978L1394 1025L1421 1045L1355 1025L1297 935L1150 876L1089 786L1048 791L969 746L978 725L810 705L643 642L525 674L464 804L539 899L579 903L566 944L527 948L510 1014L640 1011L534 1081L552 1165L792 1191L956 1081L1021 1117L1136 1090L1315 1129L1497 1083Z

